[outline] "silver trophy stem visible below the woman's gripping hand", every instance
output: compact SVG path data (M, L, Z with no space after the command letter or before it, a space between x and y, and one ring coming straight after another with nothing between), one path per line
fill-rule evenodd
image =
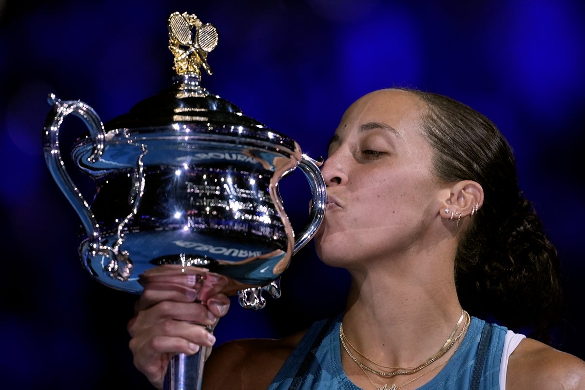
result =
M194 355L177 354L168 363L164 390L201 390L205 347Z

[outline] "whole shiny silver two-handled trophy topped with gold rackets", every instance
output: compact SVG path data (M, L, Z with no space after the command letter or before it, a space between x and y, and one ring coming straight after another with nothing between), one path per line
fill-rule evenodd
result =
M278 278L324 216L320 164L290 137L201 86L199 68L212 73L214 26L175 12L168 31L173 85L103 125L86 103L51 94L44 156L81 219L81 261L97 281L139 294L144 280L216 274L229 280L225 294L260 309L263 291L280 295ZM71 157L95 182L91 205L61 158L59 129L70 114L88 128ZM295 236L278 181L297 167L309 182L312 208ZM204 355L174 357L166 387L199 389Z

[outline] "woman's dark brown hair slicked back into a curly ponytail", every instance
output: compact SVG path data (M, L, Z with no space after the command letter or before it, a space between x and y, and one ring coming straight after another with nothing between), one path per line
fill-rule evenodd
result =
M560 262L518 187L510 145L491 120L469 106L402 90L425 103L421 120L435 150L435 174L447 182L473 180L484 190L483 206L471 217L455 258L463 308L513 330L528 327L532 337L550 343L550 327L562 310Z

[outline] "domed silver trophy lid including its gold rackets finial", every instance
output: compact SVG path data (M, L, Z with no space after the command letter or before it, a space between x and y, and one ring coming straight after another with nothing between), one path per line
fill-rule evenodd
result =
M223 137L224 142L265 142L292 153L297 151L298 145L290 137L244 115L238 106L202 87L200 68L212 74L207 56L218 43L214 26L203 24L195 15L174 12L168 18L168 36L176 71L173 84L140 101L128 113L106 122L104 129L111 134L111 141L116 137L123 143L134 138L136 141L186 136L196 139L207 133ZM92 164L82 165L91 169L88 165Z

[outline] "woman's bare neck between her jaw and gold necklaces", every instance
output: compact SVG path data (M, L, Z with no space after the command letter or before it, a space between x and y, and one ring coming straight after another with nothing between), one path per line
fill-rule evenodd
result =
M350 271L343 317L350 343L392 367L414 367L436 354L462 313L452 266L437 265L436 259L393 259Z

